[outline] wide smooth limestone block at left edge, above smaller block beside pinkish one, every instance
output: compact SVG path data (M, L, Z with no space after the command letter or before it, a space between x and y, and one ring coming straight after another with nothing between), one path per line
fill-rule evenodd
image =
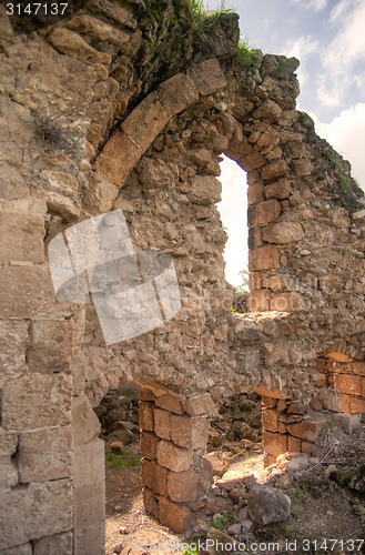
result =
M4 319L70 317L73 305L55 299L48 266L0 268L0 313Z

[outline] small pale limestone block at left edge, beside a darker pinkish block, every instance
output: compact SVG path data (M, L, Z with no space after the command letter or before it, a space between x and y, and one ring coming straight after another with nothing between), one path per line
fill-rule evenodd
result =
M27 369L26 352L29 345L28 322L0 320L1 356L0 375L12 375Z

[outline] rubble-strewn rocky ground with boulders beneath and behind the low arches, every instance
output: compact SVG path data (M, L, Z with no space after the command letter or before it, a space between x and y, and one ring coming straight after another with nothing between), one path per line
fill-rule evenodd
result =
M185 555L197 551L210 555L365 553L364 424L349 435L334 422L321 433L315 457L285 454L265 468L261 403L255 395L227 401L210 436L212 493L194 513L193 531L181 536L144 512L133 427L138 402L133 392L129 394L119 396L118 406L115 400L107 401L111 410L101 417L107 450L107 555L156 553L159 543L165 544L161 553ZM112 423L113 411L126 420ZM216 549L216 542L223 546Z

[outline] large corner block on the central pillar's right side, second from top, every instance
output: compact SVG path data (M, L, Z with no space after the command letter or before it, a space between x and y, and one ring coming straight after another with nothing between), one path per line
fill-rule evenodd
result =
M207 442L210 423L205 416L171 415L171 438L180 447L204 451Z

